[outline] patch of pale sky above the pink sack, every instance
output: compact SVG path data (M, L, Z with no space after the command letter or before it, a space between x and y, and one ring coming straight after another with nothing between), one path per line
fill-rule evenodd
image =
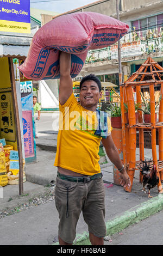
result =
M96 2L97 0L30 0L30 7L42 10L65 13L83 5Z

